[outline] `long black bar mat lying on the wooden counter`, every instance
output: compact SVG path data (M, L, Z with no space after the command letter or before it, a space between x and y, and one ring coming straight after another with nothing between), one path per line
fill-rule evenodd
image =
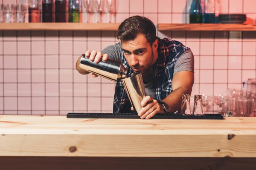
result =
M67 118L81 119L140 119L137 113L67 113ZM204 114L204 116L183 116L180 114L155 114L150 119L223 119L221 114Z

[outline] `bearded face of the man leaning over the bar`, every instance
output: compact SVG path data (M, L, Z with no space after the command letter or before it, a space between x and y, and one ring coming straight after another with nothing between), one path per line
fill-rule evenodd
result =
M150 45L144 35L139 34L132 41L122 41L122 50L129 66L142 74L153 65L154 54L157 54L157 40Z

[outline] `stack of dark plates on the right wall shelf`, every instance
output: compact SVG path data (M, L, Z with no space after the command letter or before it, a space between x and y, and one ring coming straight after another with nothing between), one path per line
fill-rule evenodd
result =
M242 24L246 21L246 14L219 14L219 23Z

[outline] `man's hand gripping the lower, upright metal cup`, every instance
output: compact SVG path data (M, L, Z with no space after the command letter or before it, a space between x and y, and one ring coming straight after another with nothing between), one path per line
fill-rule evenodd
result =
M150 119L156 113L164 113L162 106L157 102L157 100L151 98L150 96L145 96L141 101L141 110L138 115L141 119ZM133 107L131 107L133 111Z

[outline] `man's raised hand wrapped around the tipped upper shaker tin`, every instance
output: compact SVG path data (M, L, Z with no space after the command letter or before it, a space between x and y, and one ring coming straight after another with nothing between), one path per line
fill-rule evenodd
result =
M85 53L85 57L86 58L89 58L91 61L95 61L96 63L99 63L99 61L102 59L102 61L107 61L108 60L108 54L102 54L101 52L98 52L97 51L86 51ZM79 57L79 59L76 61L76 70L81 73L81 74L89 74L90 72L88 71L85 71L83 69L81 69L79 67L79 64L80 64L80 59L81 57ZM92 77L98 77L98 75L96 74L92 74Z

